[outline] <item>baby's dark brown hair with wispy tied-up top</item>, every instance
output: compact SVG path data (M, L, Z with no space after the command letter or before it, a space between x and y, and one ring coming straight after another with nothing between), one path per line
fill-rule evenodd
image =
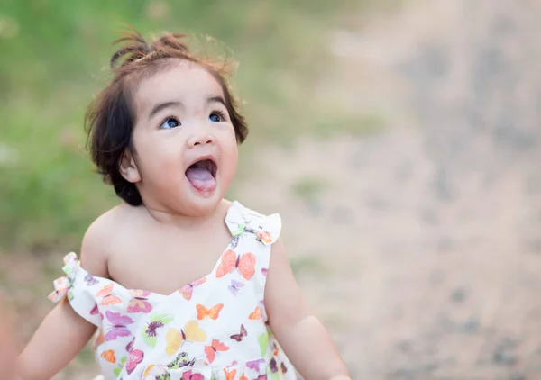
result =
M237 142L242 143L248 134L244 117L238 112L237 102L225 80L233 62L197 57L181 41L185 37L184 34L164 33L149 45L139 32L126 32L123 38L114 42L121 42L124 46L111 58L113 79L88 106L85 125L91 158L104 181L113 185L116 195L128 204L142 204L135 184L126 181L120 173L125 149L133 149L133 89L139 80L155 75L160 69L172 67L177 59L197 63L206 68L222 87Z

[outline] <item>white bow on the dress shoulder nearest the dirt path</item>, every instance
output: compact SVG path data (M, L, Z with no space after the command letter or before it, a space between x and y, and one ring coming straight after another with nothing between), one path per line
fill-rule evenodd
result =
M280 214L269 216L256 213L238 202L234 202L225 216L225 224L233 236L252 232L265 246L270 246L280 237Z

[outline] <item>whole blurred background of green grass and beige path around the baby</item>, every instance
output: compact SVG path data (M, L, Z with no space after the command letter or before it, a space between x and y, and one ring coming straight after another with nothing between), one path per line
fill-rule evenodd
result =
M354 379L541 379L540 20L535 0L1 0L14 332L29 339L62 257L118 202L82 121L131 24L240 62L251 131L230 197L281 213ZM55 380L96 373L86 349Z

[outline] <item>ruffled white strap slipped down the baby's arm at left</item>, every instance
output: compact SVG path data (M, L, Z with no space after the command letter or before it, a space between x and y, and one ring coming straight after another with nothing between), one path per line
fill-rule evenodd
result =
M102 317L92 292L93 285L99 281L80 267L74 252L64 257L62 271L66 276L54 280L54 290L48 296L50 301L58 303L67 296L75 312L90 323L100 326Z

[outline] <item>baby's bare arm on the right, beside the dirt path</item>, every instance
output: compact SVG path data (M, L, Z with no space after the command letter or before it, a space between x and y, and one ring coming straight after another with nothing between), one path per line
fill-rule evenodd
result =
M300 375L310 380L350 378L329 333L309 311L281 240L272 246L265 306L272 331Z

